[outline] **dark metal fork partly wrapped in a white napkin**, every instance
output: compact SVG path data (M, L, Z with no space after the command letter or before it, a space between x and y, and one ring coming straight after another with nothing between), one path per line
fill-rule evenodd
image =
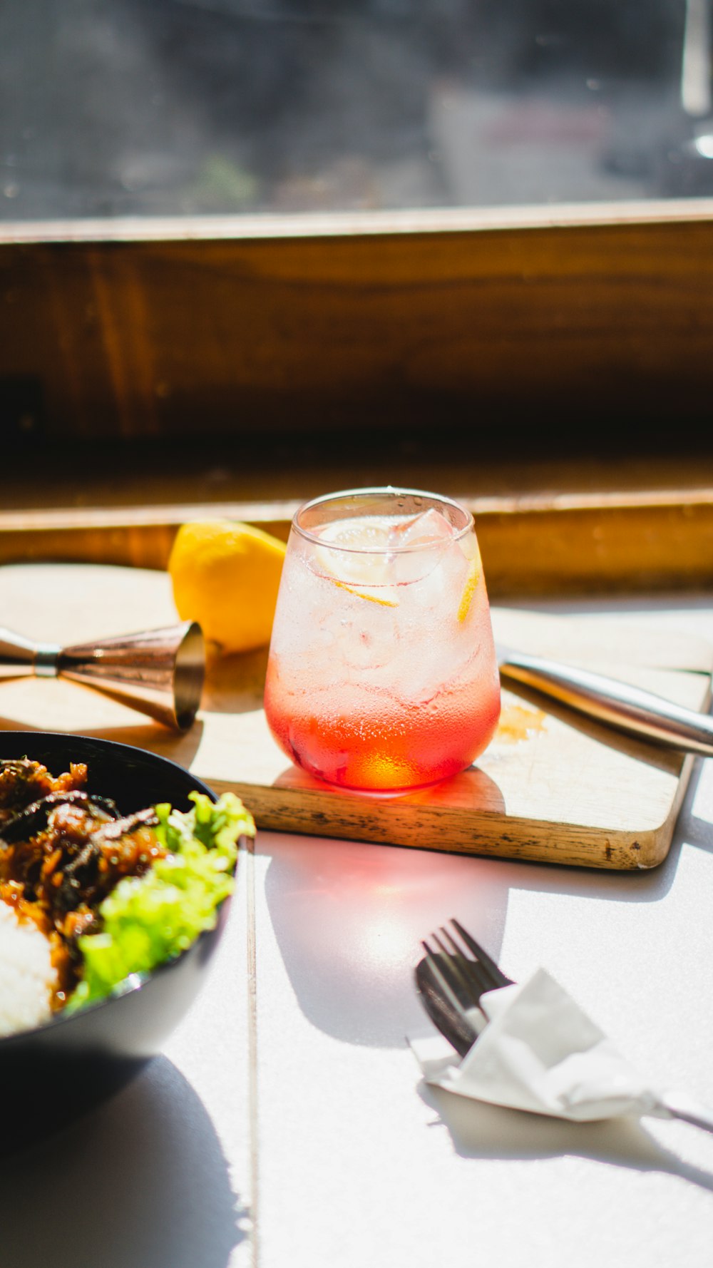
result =
M480 1007L481 997L488 990L511 987L514 981L457 919L449 923L450 929L442 926L430 935L430 941L421 941L426 954L415 969L416 990L435 1027L458 1055L464 1056L487 1025ZM713 1111L686 1092L657 1093L651 1112L713 1132Z

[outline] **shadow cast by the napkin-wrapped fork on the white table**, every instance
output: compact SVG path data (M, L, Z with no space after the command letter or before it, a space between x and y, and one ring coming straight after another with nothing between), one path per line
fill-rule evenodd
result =
M438 1125L448 1129L462 1158L532 1159L568 1154L641 1172L680 1175L713 1192L713 1172L683 1161L658 1144L638 1120L573 1123L488 1106L428 1083L421 1083L419 1092L438 1112Z

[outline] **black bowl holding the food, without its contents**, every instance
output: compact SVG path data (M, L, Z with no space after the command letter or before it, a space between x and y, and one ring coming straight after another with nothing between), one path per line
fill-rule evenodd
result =
M181 766L128 744L86 735L0 732L0 760L29 757L52 775L85 762L88 791L110 796L122 814L157 801L188 810L188 794L216 794ZM226 899L213 929L175 960L131 979L108 999L43 1026L0 1038L0 1083L18 1106L15 1127L66 1121L69 1115L118 1090L155 1056L198 994L221 937ZM1 1135L8 1140L3 1110Z

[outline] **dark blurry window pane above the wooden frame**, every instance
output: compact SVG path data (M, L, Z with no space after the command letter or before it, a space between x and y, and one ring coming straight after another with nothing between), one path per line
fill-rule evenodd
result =
M713 194L709 0L4 0L3 218Z

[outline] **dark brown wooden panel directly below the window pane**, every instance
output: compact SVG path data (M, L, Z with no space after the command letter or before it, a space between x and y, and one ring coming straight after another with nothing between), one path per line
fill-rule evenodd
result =
M49 437L704 425L712 347L713 216L690 210L448 232L0 235L5 435L23 391L22 426Z

